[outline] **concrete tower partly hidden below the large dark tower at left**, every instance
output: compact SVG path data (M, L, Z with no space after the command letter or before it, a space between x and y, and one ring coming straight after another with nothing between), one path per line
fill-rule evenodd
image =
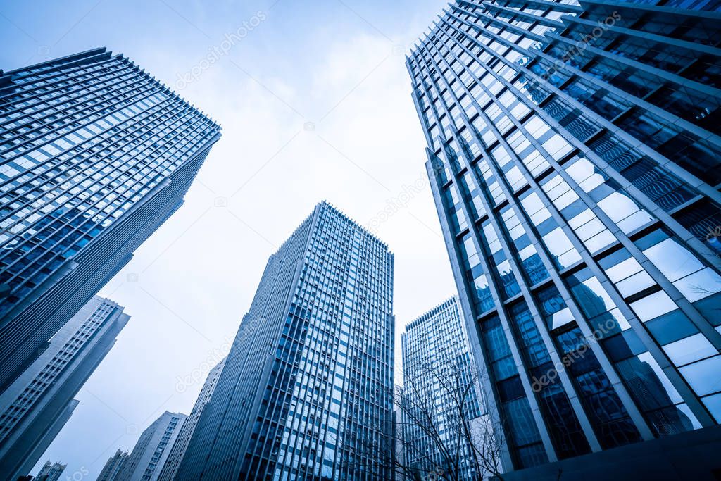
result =
M70 418L73 397L115 345L130 316L95 296L0 394L0 479L27 475Z

